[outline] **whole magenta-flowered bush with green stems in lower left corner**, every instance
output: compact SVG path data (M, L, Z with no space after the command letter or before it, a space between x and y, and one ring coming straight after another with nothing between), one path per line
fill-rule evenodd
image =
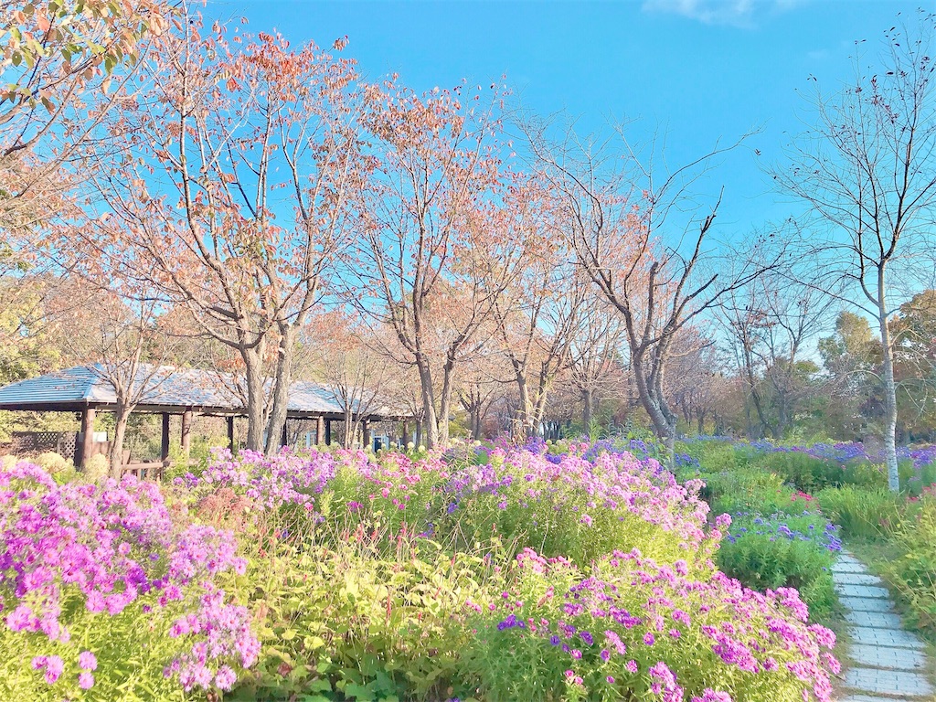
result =
M231 534L177 525L154 484L57 485L0 473L0 698L183 699L256 658L248 612L216 580ZM165 671L165 672L164 672Z

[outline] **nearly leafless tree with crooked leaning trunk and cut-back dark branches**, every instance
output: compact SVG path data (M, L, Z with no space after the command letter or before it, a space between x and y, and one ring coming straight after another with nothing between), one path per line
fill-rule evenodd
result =
M680 330L724 295L756 277L762 262L739 259L715 265L711 227L721 192L693 193L713 161L740 140L660 175L651 153L644 159L623 140L623 153L567 134L549 142L545 128L527 128L534 154L565 198L568 236L579 265L621 315L637 394L653 429L672 455L677 415L667 401L665 375ZM624 161L612 167L607 159Z

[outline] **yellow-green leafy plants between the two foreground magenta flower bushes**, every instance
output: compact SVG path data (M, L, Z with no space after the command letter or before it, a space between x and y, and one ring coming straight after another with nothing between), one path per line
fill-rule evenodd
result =
M445 698L472 637L465 603L488 602L492 566L405 527L326 512L321 524L300 511L249 527L250 566L233 588L262 615L263 652L227 698Z

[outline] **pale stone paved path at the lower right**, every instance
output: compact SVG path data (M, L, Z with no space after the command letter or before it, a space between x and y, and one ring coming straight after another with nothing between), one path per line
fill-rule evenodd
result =
M881 580L847 552L833 566L832 576L852 637L852 665L845 670L841 702L932 699L923 642L900 627Z

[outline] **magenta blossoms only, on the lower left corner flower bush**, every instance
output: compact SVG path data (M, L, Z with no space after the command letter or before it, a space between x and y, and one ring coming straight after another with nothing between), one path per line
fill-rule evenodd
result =
M63 605L75 599L111 617L131 606L172 606L190 612L173 636L191 636L180 638L169 672L179 672L186 687L227 689L227 661L247 667L258 650L246 609L225 605L214 585L222 573L244 572L236 551L233 534L177 527L159 488L132 475L59 486L26 462L0 471L0 617L13 632L67 643ZM154 605L139 602L146 595ZM56 655L32 665L50 684L64 670ZM96 665L92 651L80 653L81 688L94 685Z

